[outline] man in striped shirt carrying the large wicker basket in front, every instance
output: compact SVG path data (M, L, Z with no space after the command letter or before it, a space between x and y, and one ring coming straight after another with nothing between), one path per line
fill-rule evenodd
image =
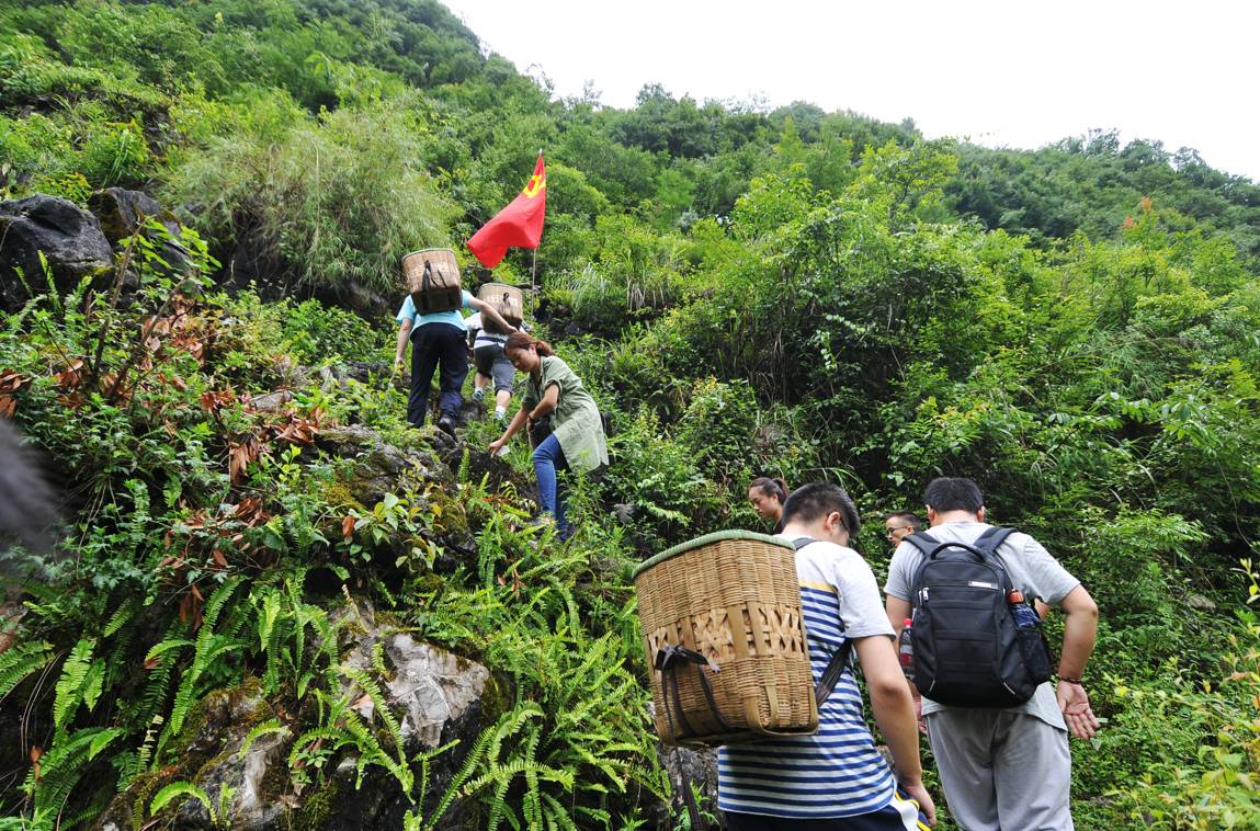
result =
M804 485L788 497L781 538L808 538L796 551L801 608L814 681L852 641L871 690L871 709L892 752L874 747L862 694L847 666L819 708L813 735L727 744L718 750L718 807L731 831L905 831L929 823L910 689L897 664L892 627L874 574L848 548L857 534L853 500L835 485ZM903 798L902 792L910 798ZM917 801L917 805L916 805Z

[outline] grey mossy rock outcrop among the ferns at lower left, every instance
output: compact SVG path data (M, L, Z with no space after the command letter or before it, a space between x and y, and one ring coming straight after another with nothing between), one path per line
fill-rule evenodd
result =
M413 759L457 740L456 747L437 754L428 763L427 801L412 805L392 773L379 766L367 766L359 778L359 758L353 747L339 750L329 769L315 774L306 787L294 787L287 758L297 738L287 726L292 716L267 701L257 680L205 696L189 715L189 728L180 735L181 759L163 768L159 776L142 778L121 794L94 825L100 831L131 827L130 817L137 801L147 807L158 788L185 781L200 788L214 803L220 826L243 831L302 827L326 831L350 828L401 828L408 810L428 817L484 726L481 700L491 684L490 672L466 659L378 622L372 607L350 601L330 616L353 632L341 666L374 676L383 690L382 704L401 726L403 753ZM343 646L346 642L343 640ZM314 648L314 647L312 647ZM373 653L382 651L387 676L375 677ZM344 700L353 701L365 724L383 737L383 721L375 703L346 681ZM260 724L276 719L282 729L251 734ZM384 740L384 739L383 739ZM393 749L391 748L391 752ZM220 794L227 805L220 806ZM195 798L179 797L168 808L175 827L212 828L210 811ZM455 801L436 823L436 828L472 827L462 801Z

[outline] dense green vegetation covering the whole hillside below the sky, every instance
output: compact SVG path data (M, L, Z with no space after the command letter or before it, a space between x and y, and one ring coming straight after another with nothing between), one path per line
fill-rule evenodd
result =
M451 478L364 501L310 443L354 427L435 455L388 371L318 368L388 360L401 257L462 249L538 149L543 243L493 277L537 268L539 331L616 426L563 544L518 521L523 449L485 478L456 451ZM180 757L197 703L243 680L273 711L251 737L287 735L294 825L325 827L352 750L407 827L656 822L633 565L760 529L745 489L774 475L843 483L879 573L878 519L941 473L1101 607L1080 827L1260 822L1255 183L1105 131L993 150L808 102L556 99L428 0L0 0L0 198L108 188L181 229L111 240L116 268L33 288L0 339L0 409L68 526L10 554L39 570L6 612L0 706L24 738L0 826L171 825L185 803L229 822ZM285 409L256 405L277 390ZM444 748L454 778L343 706L345 679L388 676L339 664L350 589L500 680L480 738Z

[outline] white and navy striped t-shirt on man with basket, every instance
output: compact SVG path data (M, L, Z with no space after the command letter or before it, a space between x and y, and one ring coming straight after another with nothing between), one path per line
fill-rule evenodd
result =
M893 636L874 574L853 549L824 541L805 545L796 551L796 577L815 684L845 637ZM892 771L867 729L852 666L820 708L813 735L718 750L723 811L848 817L881 810L893 787Z

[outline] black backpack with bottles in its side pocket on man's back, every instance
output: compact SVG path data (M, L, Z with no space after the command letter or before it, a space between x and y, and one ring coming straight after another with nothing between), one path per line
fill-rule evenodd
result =
M1050 680L1041 621L1026 614L1018 626L1007 601L1014 585L995 551L1013 530L989 528L973 545L905 539L926 558L911 582L911 680L934 701L1017 706Z

